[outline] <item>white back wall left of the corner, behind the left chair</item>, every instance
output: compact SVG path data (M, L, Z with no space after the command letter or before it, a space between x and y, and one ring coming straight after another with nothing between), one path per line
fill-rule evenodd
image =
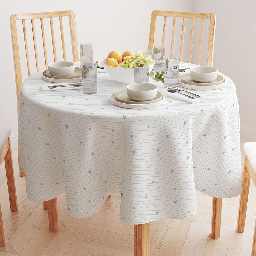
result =
M90 1L8 1L0 8L0 125L7 124L11 127L12 147L17 147L17 110L16 110L16 87L14 77L14 66L12 57L12 41L10 32L10 16L13 13L29 13L29 12L50 12L59 10L73 10L76 16L76 28L78 43L91 42L93 45L93 58L102 59L111 50L124 52L132 50L137 52L141 49L148 48L148 35L151 12L155 9L187 11L193 10L193 1L190 0L90 0ZM48 22L49 23L49 22ZM45 21L45 33L48 42L48 53L51 55L51 39L50 30L46 28L49 25ZM38 54L40 58L40 69L44 68L42 36L39 21L35 21L36 39L38 46ZM58 20L54 21L55 33L59 33ZM67 21L64 21L64 26ZM26 22L27 34L31 35L31 24ZM38 28L38 29L37 29ZM18 34L22 39L22 26L18 26ZM162 29L162 28L161 28ZM66 33L68 36L68 33ZM49 39L49 40L48 40ZM31 41L32 37L28 38ZM68 51L70 42L66 41ZM20 48L24 47L24 43L20 41ZM57 55L60 60L61 44L60 40L56 40ZM33 44L29 44L29 53L31 66L34 63ZM20 49L21 50L21 49ZM23 78L26 73L26 57L24 51L20 52L22 58ZM69 59L71 53L68 54ZM48 62L52 57L48 58ZM32 69L31 73L36 70Z

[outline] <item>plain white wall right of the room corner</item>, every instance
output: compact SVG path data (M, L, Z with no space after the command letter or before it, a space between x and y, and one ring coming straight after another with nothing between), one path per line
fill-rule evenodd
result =
M214 67L236 84L241 138L256 141L256 1L194 0L194 11L216 15Z

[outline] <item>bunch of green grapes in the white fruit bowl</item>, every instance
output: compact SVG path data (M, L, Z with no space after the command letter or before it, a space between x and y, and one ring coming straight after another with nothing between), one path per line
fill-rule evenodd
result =
M117 68L137 68L137 67L144 67L146 65L150 65L152 59L150 55L138 54L136 53L135 56L126 56L124 57L124 61L117 65Z

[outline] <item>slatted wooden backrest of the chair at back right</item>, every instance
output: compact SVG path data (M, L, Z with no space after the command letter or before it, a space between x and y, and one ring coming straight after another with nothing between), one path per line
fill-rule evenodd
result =
M207 58L206 65L212 66L213 64L213 49L214 49L214 39L215 39L215 24L216 17L213 13L197 13L197 12L171 12L171 11L160 11L154 10L151 14L151 22L150 22L150 32L149 32L149 40L148 40L148 49L152 49L155 42L155 32L156 32L156 20L157 16L164 17L164 28L163 28L163 36L162 36L162 46L165 43L165 34L166 34L166 23L167 17L173 18L172 24L172 40L171 40L171 54L173 57L174 53L174 39L175 39L175 27L177 18L182 18L182 30L181 30L181 40L180 40L180 61L183 60L183 50L184 50L184 38L185 38L185 24L187 19L192 19L191 24L191 33L190 33L190 44L189 44L189 53L188 53L188 62L192 61L192 51L193 51L193 40L194 40L194 30L195 30L195 19L201 19L200 26L200 35L199 35L199 45L198 45L198 53L197 53L197 64L200 65L201 61L201 52L202 52L202 42L203 42L203 29L204 29L204 20L210 20L209 25L209 37L208 37L208 48L207 48Z

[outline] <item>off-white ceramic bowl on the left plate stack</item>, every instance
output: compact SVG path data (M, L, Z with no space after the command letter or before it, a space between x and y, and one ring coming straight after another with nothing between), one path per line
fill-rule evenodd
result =
M75 71L75 64L69 61L55 61L48 64L52 76L69 76Z

